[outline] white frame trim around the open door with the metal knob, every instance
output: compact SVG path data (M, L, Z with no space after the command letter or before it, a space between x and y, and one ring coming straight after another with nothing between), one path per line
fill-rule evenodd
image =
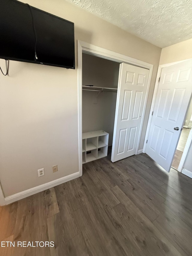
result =
M146 152L147 140L149 137L149 129L151 126L151 121L152 121L152 112L155 107L155 100L156 100L156 96L157 96L157 91L158 91L158 86L159 86L159 77L161 76L161 70L162 70L162 68L166 68L166 67L169 67L169 66L175 65L177 63L187 61L187 60L190 60L190 59L167 63L167 64L159 65L159 67L158 67L157 77L156 77L156 81L155 81L155 89L154 89L154 93L153 93L152 104L151 104L151 109L150 109L150 113L149 113L149 120L148 120L148 124L147 124L146 136L145 136L145 140L144 140L143 153ZM184 161L187 156L191 142L192 142L192 131L190 131L190 136L187 139L187 144L185 146L185 149L184 149L184 152L183 152L183 155L182 155L179 167L178 167L179 172L181 172L183 169Z

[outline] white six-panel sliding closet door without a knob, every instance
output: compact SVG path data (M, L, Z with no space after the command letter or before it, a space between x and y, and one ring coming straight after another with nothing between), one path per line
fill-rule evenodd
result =
M120 65L112 162L136 153L148 77L148 69Z

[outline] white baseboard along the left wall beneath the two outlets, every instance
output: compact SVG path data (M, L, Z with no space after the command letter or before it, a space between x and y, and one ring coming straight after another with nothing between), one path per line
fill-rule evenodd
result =
M67 176L62 177L60 179L55 179L55 180L53 180L51 182L47 182L43 185L27 189L25 191L19 192L17 194L12 195L12 196L5 197L5 203L6 204L13 203L13 202L18 201L20 199L23 199L25 197L29 197L31 195L34 195L34 194L39 193L41 191L44 191L48 188L52 188L52 187L60 185L64 182L70 181L72 179L76 179L78 177L79 177L79 172L67 175Z

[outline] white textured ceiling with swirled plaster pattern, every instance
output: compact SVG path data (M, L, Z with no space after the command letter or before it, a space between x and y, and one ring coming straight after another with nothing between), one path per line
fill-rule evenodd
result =
M161 48L192 38L192 0L67 0Z

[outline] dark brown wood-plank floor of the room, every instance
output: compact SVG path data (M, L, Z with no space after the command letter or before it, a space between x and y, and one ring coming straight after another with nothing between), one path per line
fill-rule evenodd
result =
M83 165L83 176L0 207L0 241L54 241L0 248L4 256L190 256L192 179L146 154Z

